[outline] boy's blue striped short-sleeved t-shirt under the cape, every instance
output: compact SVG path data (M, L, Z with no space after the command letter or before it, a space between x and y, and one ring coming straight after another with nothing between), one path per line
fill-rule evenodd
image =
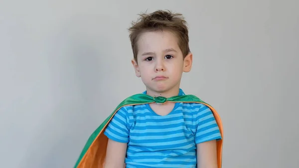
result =
M149 104L125 106L104 134L128 144L126 168L196 168L196 144L221 139L213 113L198 103L175 103L166 116Z

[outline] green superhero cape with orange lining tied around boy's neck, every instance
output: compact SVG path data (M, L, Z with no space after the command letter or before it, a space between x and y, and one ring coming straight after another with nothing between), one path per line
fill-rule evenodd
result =
M220 116L216 110L209 104L203 102L194 95L173 96L170 98L164 97L151 97L146 94L136 94L128 97L121 102L114 112L92 133L87 140L79 159L77 160L74 168L104 168L106 149L108 138L104 135L104 131L115 115L115 113L124 106L148 104L148 103L165 103L165 102L183 102L183 103L201 103L208 106L215 117L216 123L219 127L222 139L217 141L217 163L218 168L222 166L222 144L223 144L223 128Z

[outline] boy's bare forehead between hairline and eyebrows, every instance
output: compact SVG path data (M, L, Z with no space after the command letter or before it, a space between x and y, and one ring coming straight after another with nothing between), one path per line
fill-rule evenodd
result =
M179 50L177 37L169 31L144 32L138 40L140 54L142 52L159 52L169 48Z

